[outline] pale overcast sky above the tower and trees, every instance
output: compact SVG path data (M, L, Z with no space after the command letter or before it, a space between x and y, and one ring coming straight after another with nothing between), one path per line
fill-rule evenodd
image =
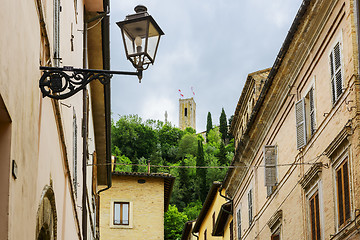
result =
M111 110L138 114L144 120L179 124L178 89L196 102L196 130L206 130L211 112L219 124L221 109L234 114L249 73L271 67L302 0L112 0L111 69L134 71L126 60L120 29L115 24L134 13L138 4L164 31L155 60L136 76L112 78ZM193 88L195 96L191 91Z

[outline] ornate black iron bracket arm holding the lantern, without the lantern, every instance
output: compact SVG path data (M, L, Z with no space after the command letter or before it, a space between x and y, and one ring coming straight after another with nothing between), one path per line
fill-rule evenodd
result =
M103 85L109 84L113 74L138 76L142 78L142 70L137 72L110 71L97 69L81 69L67 67L40 67L43 75L39 81L39 87L43 97L53 99L66 99L86 88L93 80L99 80Z

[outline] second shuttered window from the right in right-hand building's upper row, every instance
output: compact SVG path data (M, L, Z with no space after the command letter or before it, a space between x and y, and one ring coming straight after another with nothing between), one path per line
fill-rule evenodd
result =
M295 104L297 149L306 145L316 130L314 87Z

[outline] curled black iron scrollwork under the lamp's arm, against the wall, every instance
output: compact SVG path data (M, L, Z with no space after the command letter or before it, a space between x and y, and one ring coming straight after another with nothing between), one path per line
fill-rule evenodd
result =
M112 75L107 73L86 73L74 71L70 74L59 70L45 71L40 78L39 87L43 97L66 99L86 88L93 80L102 84L110 83Z

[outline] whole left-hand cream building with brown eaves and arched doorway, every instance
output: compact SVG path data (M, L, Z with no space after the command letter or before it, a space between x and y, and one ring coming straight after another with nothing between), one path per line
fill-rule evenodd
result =
M107 90L94 83L65 100L43 98L39 67L106 68L109 17L97 16L108 7L2 1L0 239L97 238L97 173L107 184L107 169L92 164L110 156Z

